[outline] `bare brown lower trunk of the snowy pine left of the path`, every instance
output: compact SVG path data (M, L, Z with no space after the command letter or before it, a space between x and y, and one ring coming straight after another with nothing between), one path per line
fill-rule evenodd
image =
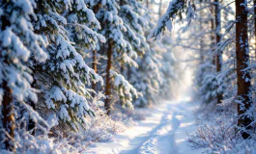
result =
M110 114L110 103L111 103L111 84L110 84L110 69L111 69L111 57L112 57L112 43L108 40L108 50L107 50L107 65L106 65L106 86L105 86L105 110L106 114Z

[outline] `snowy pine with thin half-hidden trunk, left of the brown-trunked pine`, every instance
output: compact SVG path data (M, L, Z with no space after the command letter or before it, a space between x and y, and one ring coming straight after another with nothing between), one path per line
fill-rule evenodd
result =
M103 36L97 33L100 30L100 22L95 18L99 6L93 10L87 9L85 3L76 3L72 5L72 10L65 13L68 19L68 31L72 42L75 42L75 49L84 58L87 50L93 50L92 69L97 73L97 50L99 42L105 42ZM100 41L99 41L100 40ZM96 97L97 82L92 82L92 97ZM102 85L101 85L102 86Z

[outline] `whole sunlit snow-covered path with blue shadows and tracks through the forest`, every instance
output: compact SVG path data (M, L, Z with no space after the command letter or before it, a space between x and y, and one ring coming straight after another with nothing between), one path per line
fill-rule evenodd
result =
M115 141L99 142L90 147L90 154L199 154L186 141L194 131L193 110L185 100L164 101L157 109L148 109L149 116L116 136Z

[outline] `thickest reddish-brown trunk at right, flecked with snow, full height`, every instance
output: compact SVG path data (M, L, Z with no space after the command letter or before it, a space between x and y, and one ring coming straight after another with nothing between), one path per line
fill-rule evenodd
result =
M242 5L243 4L243 5ZM245 6L244 6L245 5ZM236 60L237 60L237 85L238 85L238 126L245 130L250 130L249 124L252 122L251 117L243 114L251 107L251 83L249 71L243 71L249 64L249 48L247 34L247 14L244 7L247 6L245 0L236 0ZM247 139L250 135L241 132L242 138Z

